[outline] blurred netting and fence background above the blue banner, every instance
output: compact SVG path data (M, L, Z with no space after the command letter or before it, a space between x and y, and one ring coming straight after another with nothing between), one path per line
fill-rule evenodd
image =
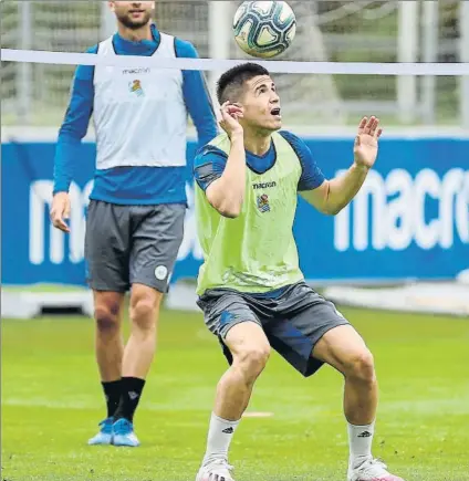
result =
M113 19L110 22L105 13L105 3L96 0L2 1L2 48L83 52L114 28ZM213 35L210 35L213 3L217 2L159 0L155 19L161 30L191 41L200 56L209 57L213 48ZM219 23L229 29L240 2L225 3L229 8ZM402 21L403 3L418 6L414 11L414 36L408 29L411 19ZM436 11L428 11L429 3L436 6ZM410 49L399 51L399 44L415 41L415 61L461 61L461 3L465 2L290 1L299 29L292 48L281 59L396 62ZM428 29L430 14L434 24ZM226 57L248 59L228 36ZM215 39L217 41L216 35ZM73 65L3 62L2 124L59 125L73 71ZM393 75L280 74L275 80L285 116L294 124L350 124L355 123L357 115L371 111L387 124L454 125L459 122L461 98L455 76L405 80L400 84ZM410 98L406 98L408 95ZM404 112L406 104L407 112Z

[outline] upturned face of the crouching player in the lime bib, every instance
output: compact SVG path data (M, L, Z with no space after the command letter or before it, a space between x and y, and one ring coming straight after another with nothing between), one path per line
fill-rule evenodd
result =
M269 75L257 76L247 82L242 107L242 122L246 126L267 132L282 127L280 97Z

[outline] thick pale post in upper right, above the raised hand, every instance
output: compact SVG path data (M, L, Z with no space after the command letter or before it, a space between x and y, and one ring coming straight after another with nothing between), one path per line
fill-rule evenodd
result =
M418 7L417 0L400 0L398 7L397 55L398 62L416 62L418 55ZM397 105L399 121L410 124L415 121L417 107L417 77L397 77Z

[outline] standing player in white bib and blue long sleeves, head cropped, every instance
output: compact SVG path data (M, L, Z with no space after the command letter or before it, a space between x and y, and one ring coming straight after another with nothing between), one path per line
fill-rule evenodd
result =
M117 32L96 55L197 57L189 42L158 31L154 1L110 1ZM158 311L183 240L186 129L190 114L201 145L217 123L199 72L79 66L59 134L51 208L69 231L69 186L93 113L96 170L86 219L85 261L94 294L95 352L107 417L90 445L136 447L133 419L156 348ZM73 206L72 206L73 208ZM132 334L124 347L123 303L131 290Z

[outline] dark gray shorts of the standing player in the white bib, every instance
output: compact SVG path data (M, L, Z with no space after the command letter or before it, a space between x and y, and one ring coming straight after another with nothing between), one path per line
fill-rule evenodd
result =
M86 216L87 282L95 291L132 284L168 290L184 236L186 206L119 206L91 200Z

